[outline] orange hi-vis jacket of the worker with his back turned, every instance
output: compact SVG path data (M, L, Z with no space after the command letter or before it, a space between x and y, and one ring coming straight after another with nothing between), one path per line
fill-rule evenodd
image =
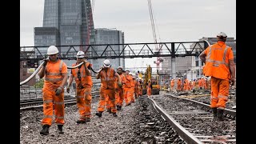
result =
M206 66L203 72L206 76L230 79L229 60L234 58L232 48L225 42L217 42L206 48Z

